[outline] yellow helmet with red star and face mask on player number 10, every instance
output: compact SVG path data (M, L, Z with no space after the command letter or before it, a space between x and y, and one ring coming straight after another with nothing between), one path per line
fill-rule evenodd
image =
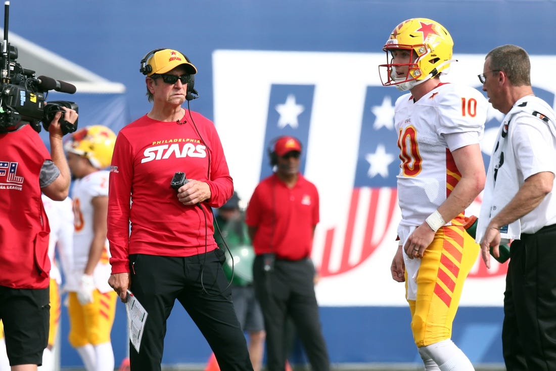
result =
M380 80L384 86L395 85L399 90L409 90L420 82L429 80L440 72L448 72L454 60L454 41L450 33L440 23L428 18L411 18L394 28L383 50L386 52L385 65L380 65ZM411 50L409 64L392 64L390 51ZM396 66L409 66L408 74L399 78Z

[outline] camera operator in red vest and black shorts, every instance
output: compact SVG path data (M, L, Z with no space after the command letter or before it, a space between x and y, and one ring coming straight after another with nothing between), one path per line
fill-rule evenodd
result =
M77 112L64 110L75 123ZM48 128L50 154L31 125L0 134L0 319L12 371L37 370L48 343L50 227L41 192L68 195L61 119L57 112Z

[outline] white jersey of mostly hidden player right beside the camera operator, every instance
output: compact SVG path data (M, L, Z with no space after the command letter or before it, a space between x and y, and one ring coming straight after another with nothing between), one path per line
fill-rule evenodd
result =
M48 240L48 257L50 258L50 277L58 285L62 282L60 270L56 264L56 248L63 269L71 265L73 253L73 209L72 200L67 197L64 201L53 201L46 194L42 194L44 211L50 224Z

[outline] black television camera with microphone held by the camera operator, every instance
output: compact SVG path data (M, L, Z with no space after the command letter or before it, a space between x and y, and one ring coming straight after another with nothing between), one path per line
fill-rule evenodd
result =
M17 130L29 124L39 133L41 122L48 130L54 115L63 108L78 110L75 102L49 101L45 99L49 90L73 94L76 87L68 82L47 76L35 76L35 71L23 68L16 62L17 48L8 43L9 1L4 2L4 40L0 55L0 133ZM62 133L73 133L75 124L61 118Z

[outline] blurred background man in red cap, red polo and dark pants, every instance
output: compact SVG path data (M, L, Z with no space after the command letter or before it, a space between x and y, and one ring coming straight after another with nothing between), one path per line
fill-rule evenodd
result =
M295 324L313 370L330 370L316 301L312 238L319 222L319 193L299 172L301 143L281 136L271 144L275 173L255 188L246 224L255 249L253 283L266 329L266 366L284 370L285 320Z

